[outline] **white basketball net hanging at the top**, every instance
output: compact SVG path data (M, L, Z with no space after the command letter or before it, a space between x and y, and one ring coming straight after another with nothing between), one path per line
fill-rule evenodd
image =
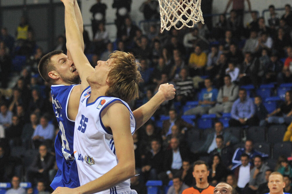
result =
M201 11L201 0L158 0L160 7L161 33L175 29L182 29L184 26L194 27L198 22L204 24Z

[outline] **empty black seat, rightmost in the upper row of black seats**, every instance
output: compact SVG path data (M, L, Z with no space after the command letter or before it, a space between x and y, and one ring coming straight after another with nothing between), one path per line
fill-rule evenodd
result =
M282 142L285 132L286 132L285 125L270 126L267 130L268 142L270 143Z

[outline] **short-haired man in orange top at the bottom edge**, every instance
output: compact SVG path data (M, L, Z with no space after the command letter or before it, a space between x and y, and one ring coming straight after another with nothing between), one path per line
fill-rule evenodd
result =
M204 161L196 161L194 163L193 176L196 179L196 185L187 188L182 194L213 194L215 187L208 183L209 167Z

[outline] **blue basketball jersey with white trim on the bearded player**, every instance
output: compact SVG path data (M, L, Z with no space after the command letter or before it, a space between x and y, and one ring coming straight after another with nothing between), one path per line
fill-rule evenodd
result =
M69 97L75 86L76 85L51 86L53 110L60 128L55 139L58 172L50 185L54 190L59 186L69 188L80 186L77 165L73 153L75 121L70 120L67 115Z

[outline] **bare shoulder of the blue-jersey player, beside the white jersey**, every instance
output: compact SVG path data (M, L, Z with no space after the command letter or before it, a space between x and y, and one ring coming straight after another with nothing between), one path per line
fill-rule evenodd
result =
M77 113L78 113L78 107L79 107L79 100L80 100L80 87L81 85L75 86L70 94L68 107L67 107L67 116L68 119L75 121Z

